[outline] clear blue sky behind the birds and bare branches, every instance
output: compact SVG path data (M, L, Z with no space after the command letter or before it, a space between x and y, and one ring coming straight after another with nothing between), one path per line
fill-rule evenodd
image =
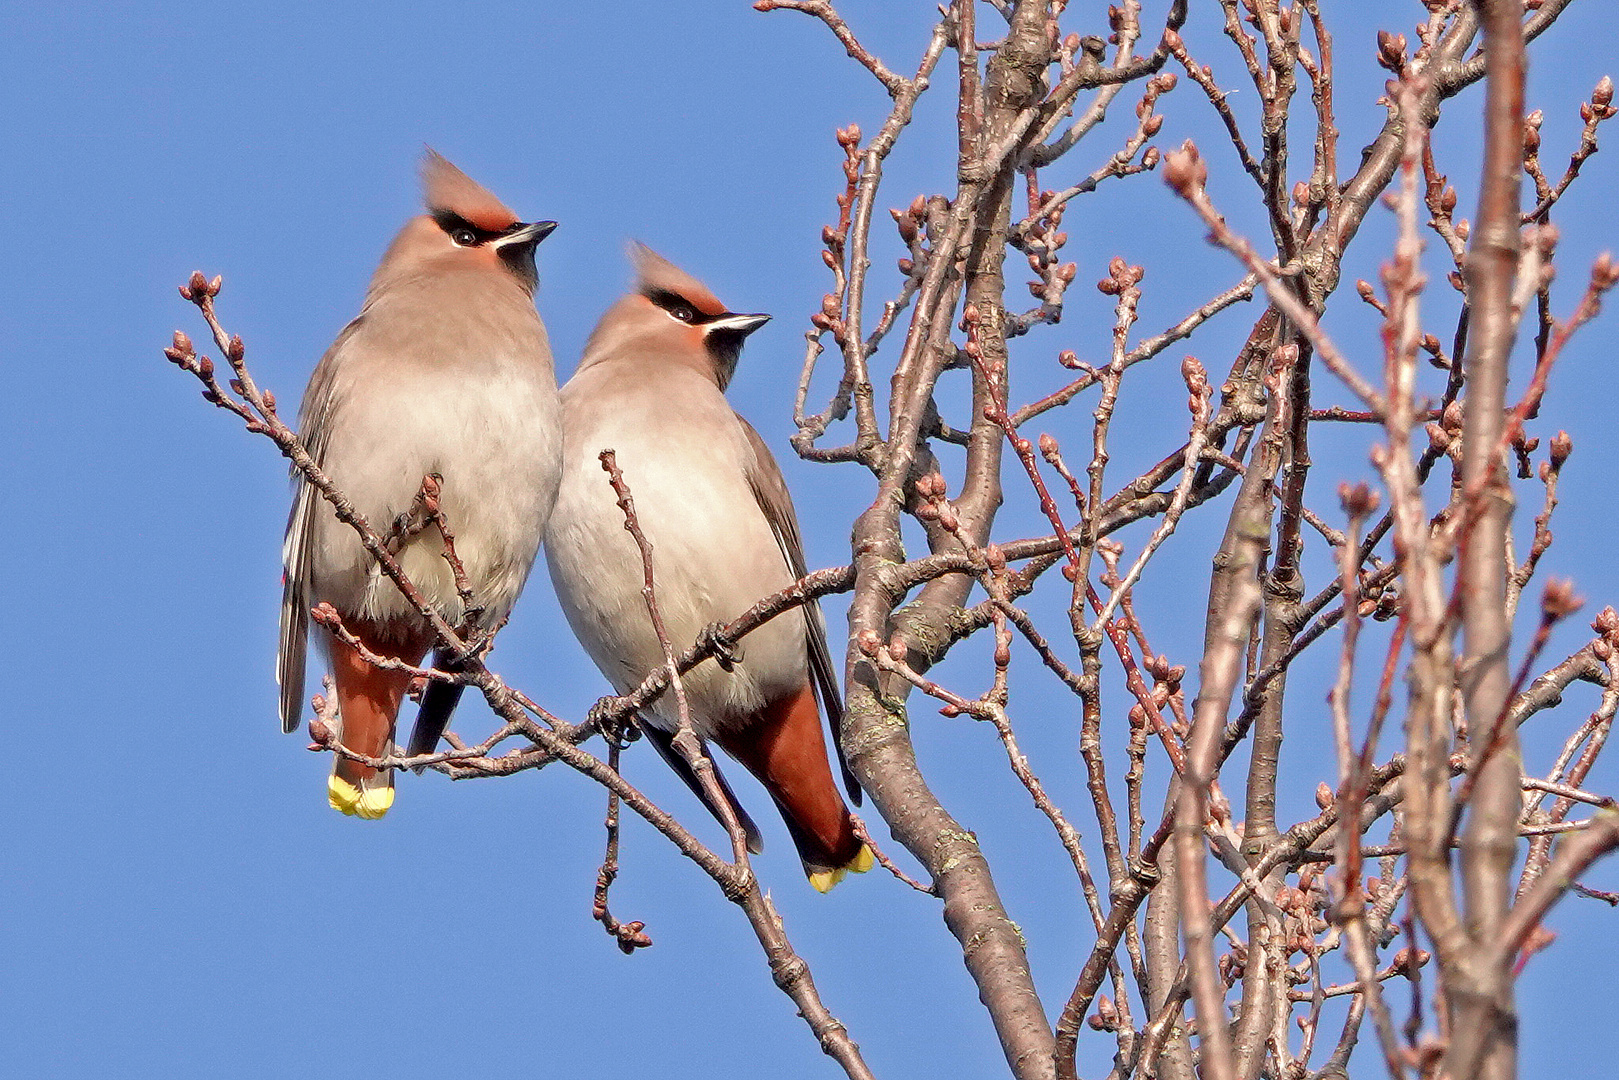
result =
M1366 6L1407 34L1421 11ZM1103 26L1101 5L1070 8L1088 19L1077 29ZM931 3L848 0L840 10L902 71L931 29ZM983 8L984 26L994 18ZM1200 60L1235 78L1235 55L1200 18L1188 29ZM1384 73L1370 63L1371 16L1334 18L1347 168L1383 121L1371 102ZM627 829L614 904L622 918L646 920L657 944L618 954L589 920L602 800L580 777L560 767L500 782L406 777L377 826L325 808L329 763L282 737L274 716L282 460L202 405L159 350L175 327L202 337L173 287L193 269L223 274L222 313L248 340L256 376L296 400L414 212L429 142L525 217L562 222L539 257L539 309L562 374L627 282L630 236L732 308L777 316L750 340L732 393L784 461L811 565L847 562L847 523L869 500L869 478L792 460L787 436L801 334L827 287L818 235L840 186L832 131L852 120L873 131L886 113L881 87L822 26L740 2L497 3L453 15L424 3L58 3L13 5L0 28L10 151L0 160L10 238L0 246L0 450L13 551L0 568L13 627L11 704L0 712L11 761L0 784L0 1046L15 1074L698 1077L724 1056L740 1062L737 1075L835 1075L771 984L742 916L640 824ZM1613 40L1613 16L1587 2L1535 53L1530 97L1546 108L1551 170L1574 147L1577 102L1616 66ZM1248 99L1232 100L1242 112ZM1478 91L1464 97L1436 134L1452 175L1475 168L1480 100ZM1104 160L1132 105L1127 92L1056 180ZM1216 199L1239 227L1258 225L1206 102L1182 83L1161 112L1159 144L1203 141ZM941 94L907 131L884 206L945 191L952 154ZM1557 219L1561 311L1619 235L1603 198L1613 160L1598 155L1585 172ZM1464 185L1464 212L1473 201ZM1078 285L1064 324L1015 353L1018 392L1030 397L1062 381L1059 348L1103 355L1109 304L1088 283L1111 256L1148 267L1143 334L1239 277L1151 176L1077 201L1065 227ZM1345 280L1375 277L1386 235L1375 210ZM886 285L897 283L890 248L874 270ZM1454 301L1444 267L1431 266L1434 325L1446 335ZM1341 298L1334 329L1370 371L1376 338L1350 303ZM1192 351L1222 371L1250 319L1230 313ZM1577 338L1545 408L1575 440L1545 567L1577 580L1587 617L1619 599L1609 554L1619 431L1604 368L1619 347L1614 325ZM1174 445L1182 421L1166 429L1151 403L1174 395L1179 410L1179 356L1127 384L1117 474ZM1342 398L1336 387L1323 395ZM1086 410L1054 419L1054 434L1078 445ZM1365 432L1318 437L1319 508L1336 512L1339 479L1370 476L1365 444ZM1538 502L1530 487L1520 497L1522 525ZM1221 523L1217 510L1188 520L1140 588L1154 646L1177 662L1195 662L1203 541ZM1022 536L1036 525L1012 508L1002 528ZM1319 583L1319 563L1313 573ZM840 604L829 619L840 623ZM1577 623L1553 651L1583 641ZM981 654L963 649L947 672L983 685ZM1030 657L1018 664L1025 748L1085 827L1073 706ZM544 575L495 665L565 716L583 716L606 691ZM1287 763L1310 777L1287 798L1297 816L1313 813L1315 779L1332 767L1319 704L1328 678L1303 665L1294 680ZM1570 691L1569 706L1530 732L1532 763L1545 769L1557 733L1593 706L1590 688ZM465 708L458 727L487 721L481 706ZM916 742L991 855L1043 993L1060 1002L1090 933L1056 839L1005 774L992 732L918 708ZM627 771L708 827L644 748ZM1614 792L1616 780L1604 766L1591 787ZM788 933L877 1075L999 1075L1001 1052L934 902L882 874L813 894L763 792L750 785L743 798L766 824L759 868ZM1590 882L1619 887L1619 868ZM1591 1070L1619 1052L1611 1006L1595 993L1619 960L1616 918L1591 902L1557 912L1561 939L1522 983L1525 1059L1541 1056L1525 1075ZM1104 1072L1109 1052L1086 1041L1083 1070Z

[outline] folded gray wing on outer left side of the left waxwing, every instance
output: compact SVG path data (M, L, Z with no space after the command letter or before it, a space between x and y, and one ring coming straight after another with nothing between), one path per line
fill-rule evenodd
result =
M298 431L304 449L316 465L325 465L327 432L330 431L332 382L337 369L337 353L343 348L361 321L350 322L325 356L309 376L303 408L298 411ZM275 683L282 691L282 730L295 732L304 711L304 667L309 648L309 570L314 546L314 515L321 510L321 492L301 473L293 470L293 508L287 515L287 538L282 541L282 635L275 656Z

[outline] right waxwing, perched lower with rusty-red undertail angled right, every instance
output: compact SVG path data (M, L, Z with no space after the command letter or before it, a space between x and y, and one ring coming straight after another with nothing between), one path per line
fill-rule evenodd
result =
M659 610L677 651L704 627L730 622L805 575L782 471L725 402L743 338L769 316L727 311L696 279L644 246L635 244L631 257L636 291L602 316L562 389L562 491L546 539L568 625L618 693L664 657L641 594L641 555L623 528L601 450L617 452L652 542ZM719 743L776 798L810 884L826 892L847 871L871 868L871 850L855 836L821 733L816 699L835 740L842 698L814 604L745 636L729 670L704 661L685 675L685 688L698 737ZM661 696L638 724L703 797L674 748L675 696ZM860 787L847 763L842 771L858 805ZM720 785L750 850L759 852L758 827ZM716 806L709 810L719 816Z

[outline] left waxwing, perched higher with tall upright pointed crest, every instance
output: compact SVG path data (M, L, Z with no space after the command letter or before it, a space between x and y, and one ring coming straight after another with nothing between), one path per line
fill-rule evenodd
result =
M534 246L557 223L520 222L431 149L421 173L427 212L393 238L359 316L316 366L300 429L316 463L384 538L411 510L423 478L440 478L439 508L471 586L471 610L463 610L437 526L402 538L395 557L452 627L476 619L487 628L523 591L562 474L557 377L534 311ZM282 557L277 678L282 729L291 732L304 703L311 606L332 604L368 649L406 664L419 664L434 636L301 476ZM324 640L337 735L356 753L385 755L410 675ZM458 693L427 688L418 753L437 745ZM345 814L380 818L393 805L393 776L338 758L329 795Z

